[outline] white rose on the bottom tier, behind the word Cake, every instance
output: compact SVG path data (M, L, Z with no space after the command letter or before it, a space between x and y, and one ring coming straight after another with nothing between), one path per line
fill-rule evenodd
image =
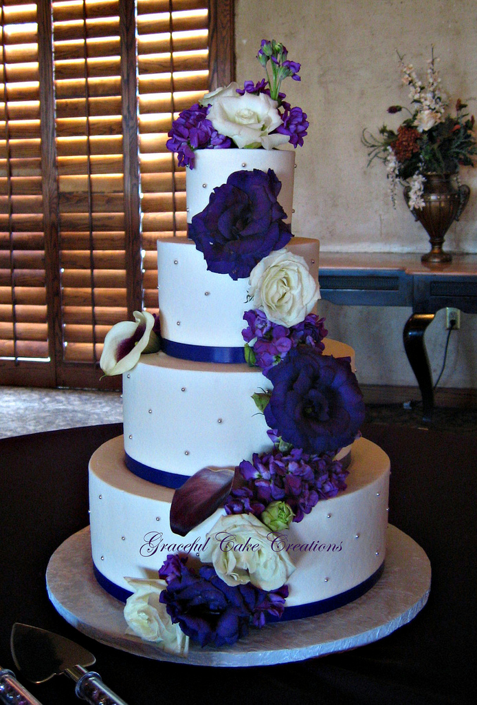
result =
M273 550L274 534L253 514L222 516L207 537L202 560L212 563L227 585L251 582L262 590L276 590L295 570L286 551Z

